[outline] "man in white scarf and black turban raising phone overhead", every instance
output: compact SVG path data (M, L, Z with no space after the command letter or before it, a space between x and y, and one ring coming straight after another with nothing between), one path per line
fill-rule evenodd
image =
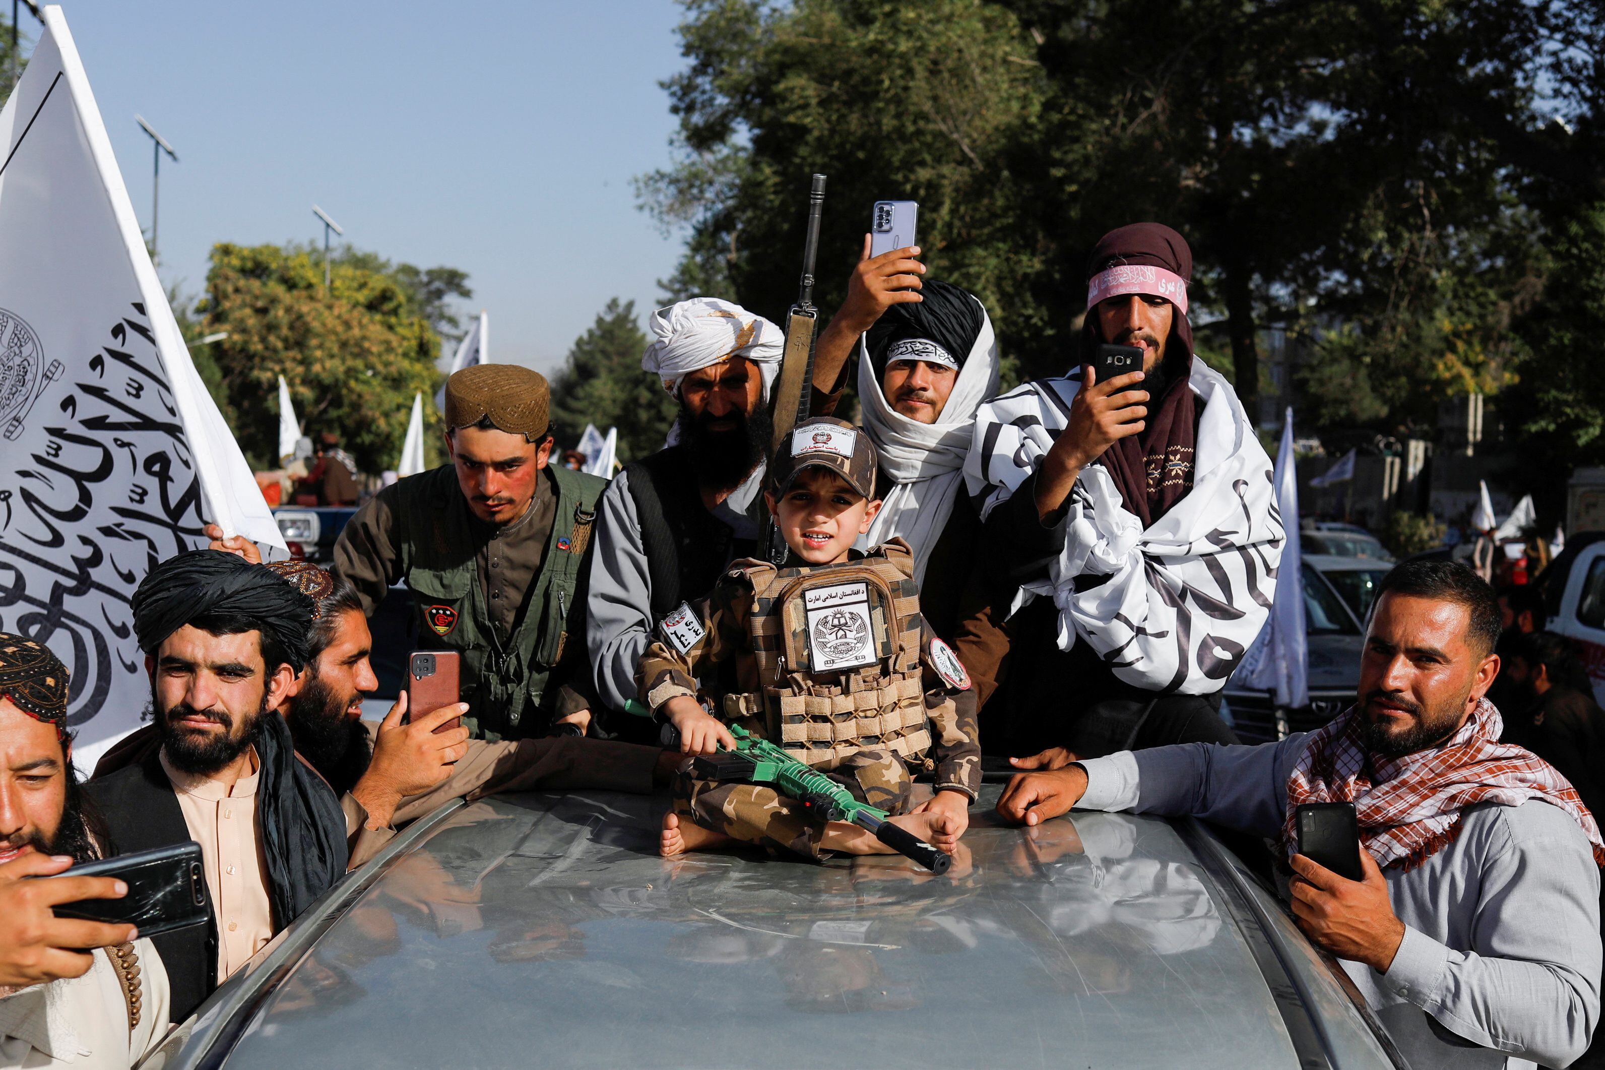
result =
M820 355L859 350L863 428L880 467L881 512L860 550L902 539L913 550L920 608L931 629L952 640L969 581L981 517L965 491L976 411L998 388L998 347L981 300L957 286L924 279L918 289L873 286L884 258L863 260L847 298L820 337Z

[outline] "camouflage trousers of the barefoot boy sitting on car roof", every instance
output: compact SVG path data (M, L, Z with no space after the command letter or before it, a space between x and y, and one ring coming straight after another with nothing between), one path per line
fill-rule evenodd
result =
M913 778L902 759L891 751L859 751L825 775L852 792L854 799L878 810L910 810ZM819 841L825 834L825 823L804 810L801 802L769 784L700 780L687 760L669 788L669 799L682 820L689 818L730 839L775 844L811 858L823 853Z

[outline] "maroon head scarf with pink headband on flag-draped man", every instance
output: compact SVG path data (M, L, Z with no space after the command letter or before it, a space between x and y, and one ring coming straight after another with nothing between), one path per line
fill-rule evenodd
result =
M1160 271L1106 274L1130 266ZM1144 528L1193 489L1193 448L1197 438L1197 409L1188 382L1193 371L1193 324L1186 313L1186 290L1178 294L1175 289L1176 278L1183 286L1193 281L1193 250L1181 234L1162 223L1132 223L1109 231L1087 263L1088 303L1082 353L1088 359L1101 342L1117 342L1101 337L1098 330L1095 310L1101 295L1149 294L1170 300L1173 306L1160 369L1164 382L1152 383L1154 377L1149 377L1148 427L1140 435L1122 438L1098 459L1120 488L1125 507Z

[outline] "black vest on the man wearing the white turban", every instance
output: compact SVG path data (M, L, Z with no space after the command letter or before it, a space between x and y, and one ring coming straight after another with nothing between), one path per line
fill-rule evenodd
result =
M735 539L730 525L703 505L697 465L684 446L632 460L624 472L647 553L652 619L661 621L682 602L713 590L730 558L751 555L756 544Z

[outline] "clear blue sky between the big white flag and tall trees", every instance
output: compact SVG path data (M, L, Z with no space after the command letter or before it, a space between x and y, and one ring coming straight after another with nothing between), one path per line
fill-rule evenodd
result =
M681 236L631 178L669 162L672 0L64 0L141 226L144 116L160 274L199 294L213 242L323 239L470 276L491 358L551 369L610 297L652 310ZM6 11L10 18L10 11ZM39 24L22 11L22 32Z

